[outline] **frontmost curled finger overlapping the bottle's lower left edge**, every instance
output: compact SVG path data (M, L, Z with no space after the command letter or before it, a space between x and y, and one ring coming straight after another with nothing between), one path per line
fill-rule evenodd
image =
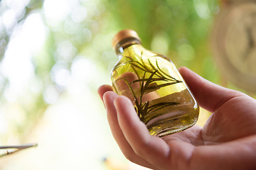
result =
M159 137L149 135L146 125L139 120L129 98L114 99L119 126L134 152L150 164L162 169L168 162L169 146Z

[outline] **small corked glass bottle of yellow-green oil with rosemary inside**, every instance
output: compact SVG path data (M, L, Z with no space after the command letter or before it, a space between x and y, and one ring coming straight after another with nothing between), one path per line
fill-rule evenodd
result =
M146 50L134 30L117 33L112 47L119 57L112 87L132 101L151 135L164 137L195 125L198 104L169 58Z

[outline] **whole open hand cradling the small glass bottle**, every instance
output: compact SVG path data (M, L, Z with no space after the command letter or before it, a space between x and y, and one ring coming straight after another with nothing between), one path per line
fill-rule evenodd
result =
M150 169L256 169L256 100L179 69L199 106L213 113L202 127L166 137L149 135L132 102L109 85L98 94L112 135L127 159Z

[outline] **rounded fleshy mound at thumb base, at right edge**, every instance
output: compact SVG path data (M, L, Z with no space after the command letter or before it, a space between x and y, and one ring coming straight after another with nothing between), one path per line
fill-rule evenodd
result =
M256 103L246 96L231 98L217 108L203 127L205 144L218 144L255 135L256 115L252 105ZM250 111L249 111L250 110Z

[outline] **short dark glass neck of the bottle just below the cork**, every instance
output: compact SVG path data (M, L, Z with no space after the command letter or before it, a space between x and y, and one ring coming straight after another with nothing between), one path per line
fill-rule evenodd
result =
M131 45L141 45L142 43L137 38L124 38L115 47L115 52L117 55L122 54L125 48Z

